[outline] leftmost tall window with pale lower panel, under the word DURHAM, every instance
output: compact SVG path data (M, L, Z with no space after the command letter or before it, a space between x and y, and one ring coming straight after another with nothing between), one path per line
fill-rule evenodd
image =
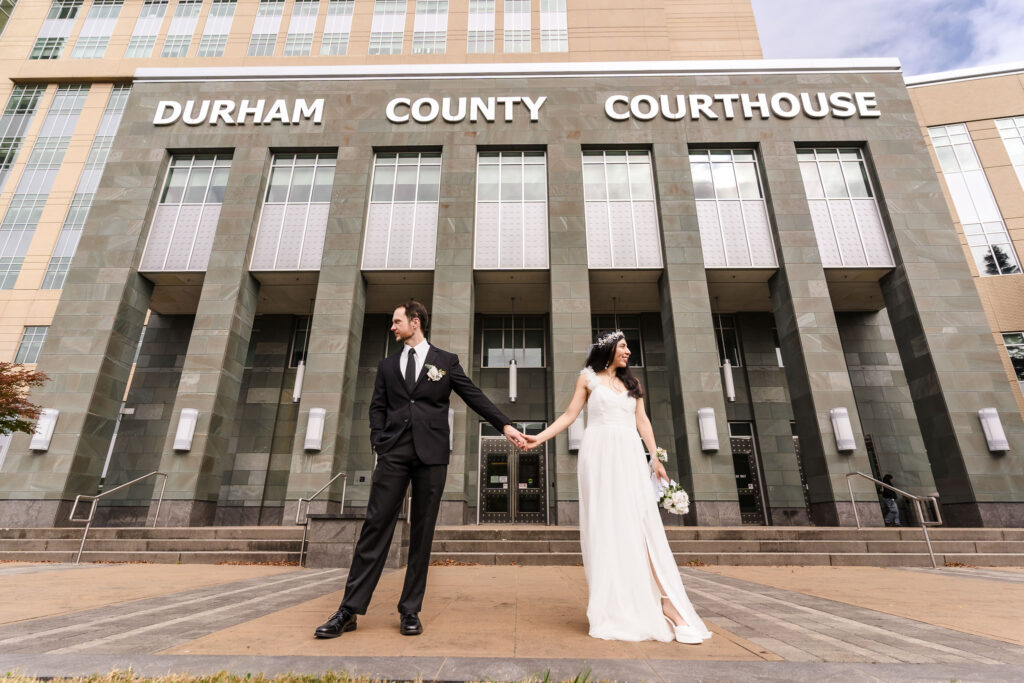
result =
M171 159L139 270L206 270L230 166L229 155Z

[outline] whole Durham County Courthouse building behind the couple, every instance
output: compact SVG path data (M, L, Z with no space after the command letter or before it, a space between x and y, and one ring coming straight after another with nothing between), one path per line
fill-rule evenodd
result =
M746 0L623 4L17 2L0 359L51 381L2 523L157 470L161 525L288 523L338 474L313 509L360 511L413 297L526 431L623 330L686 523L881 524L860 471L1024 525L1020 75L966 112L895 59L762 59ZM574 430L449 422L441 523L577 522Z

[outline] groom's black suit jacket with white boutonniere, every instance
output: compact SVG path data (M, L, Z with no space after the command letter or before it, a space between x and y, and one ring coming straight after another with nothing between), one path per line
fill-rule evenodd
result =
M511 422L466 377L455 353L431 344L412 390L402 376L400 358L399 350L377 366L374 395L370 400L370 440L377 453L386 453L403 431L412 429L420 460L427 465L447 465L447 411L453 391L499 431ZM444 376L430 380L427 377L430 366L442 371Z

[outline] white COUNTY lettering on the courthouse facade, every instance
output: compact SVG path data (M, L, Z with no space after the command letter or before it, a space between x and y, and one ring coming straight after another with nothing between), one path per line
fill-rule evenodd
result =
M447 123L469 121L476 123L486 121L494 123L499 116L506 122L515 120L517 106L521 105L529 114L529 120L541 120L541 108L548 98L546 96L504 96L504 97L441 97L440 101L433 97L395 97L387 103L384 115L391 123L431 123L438 117Z

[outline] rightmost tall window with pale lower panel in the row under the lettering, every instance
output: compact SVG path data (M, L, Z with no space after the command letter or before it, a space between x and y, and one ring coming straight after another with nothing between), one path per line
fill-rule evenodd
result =
M826 268L893 265L882 214L860 150L797 151L814 237Z

